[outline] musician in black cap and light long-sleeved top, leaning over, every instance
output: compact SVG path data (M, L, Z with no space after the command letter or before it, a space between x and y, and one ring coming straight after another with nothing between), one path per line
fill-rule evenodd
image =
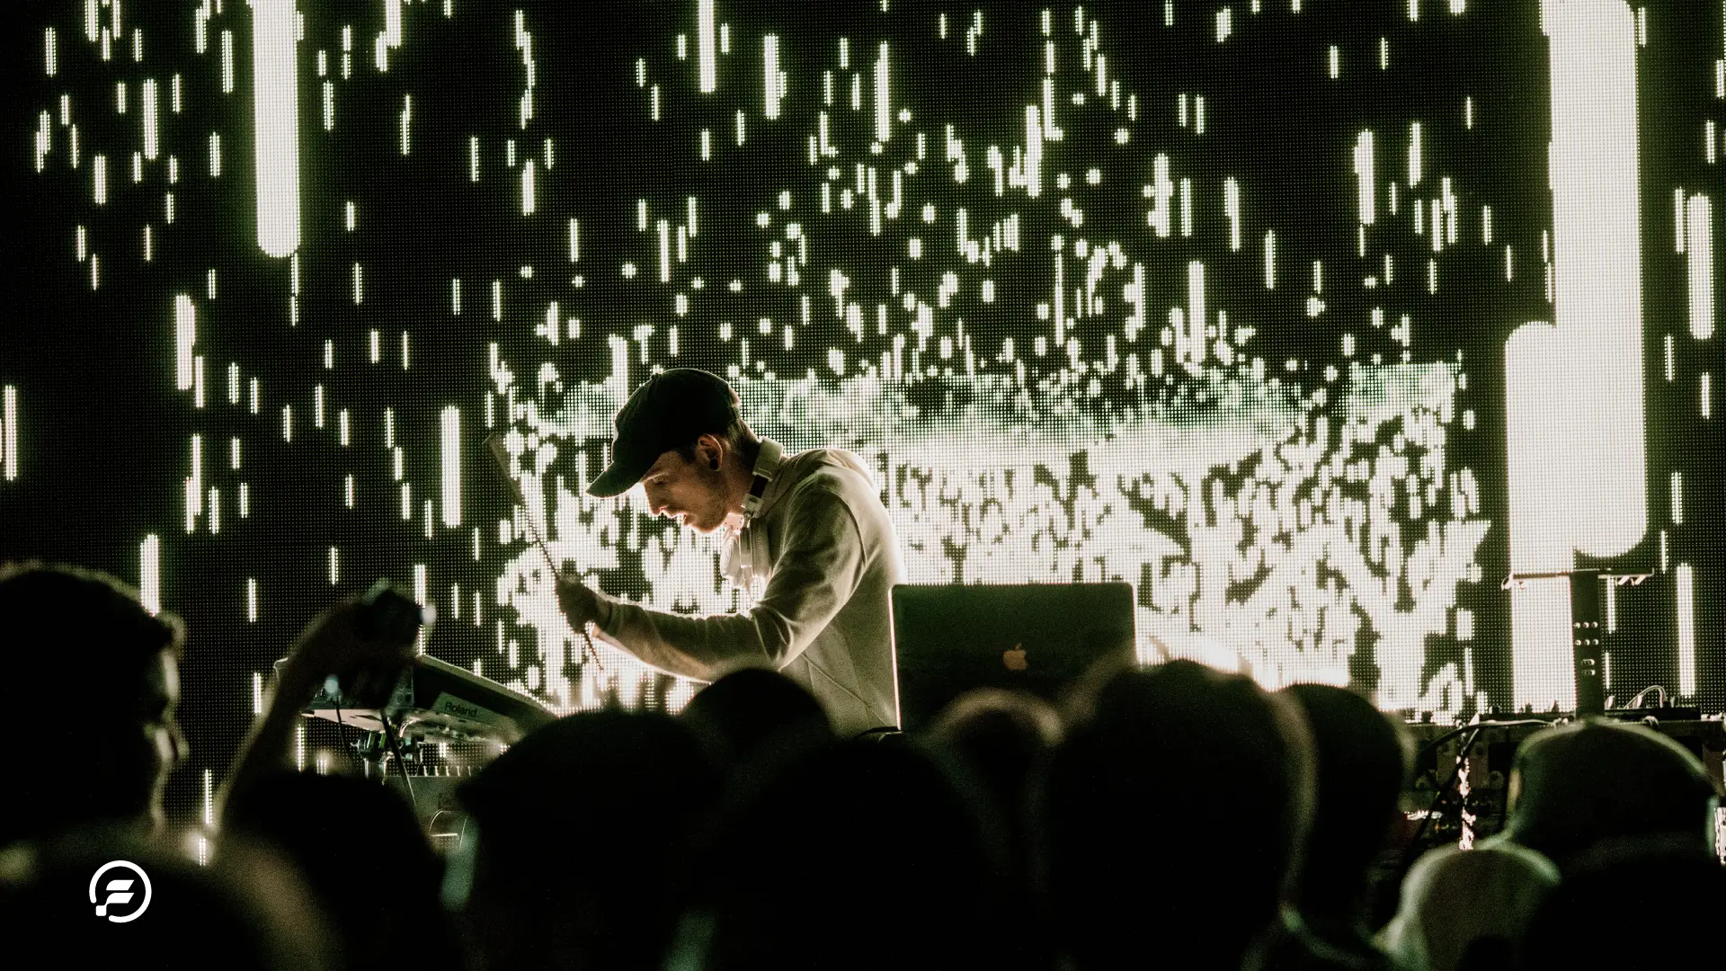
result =
M637 482L654 515L725 530L723 572L754 603L689 617L566 579L557 601L570 624L592 624L602 641L685 677L772 665L820 698L841 736L896 724L887 593L899 553L856 454L785 454L744 423L721 378L675 368L618 411L611 463L587 492L618 496Z

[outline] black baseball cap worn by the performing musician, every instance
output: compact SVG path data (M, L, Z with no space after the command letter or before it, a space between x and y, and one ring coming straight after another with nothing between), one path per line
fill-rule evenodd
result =
M661 454L690 446L701 435L723 435L740 416L737 392L718 375L671 368L647 378L618 409L611 465L587 494L628 492Z

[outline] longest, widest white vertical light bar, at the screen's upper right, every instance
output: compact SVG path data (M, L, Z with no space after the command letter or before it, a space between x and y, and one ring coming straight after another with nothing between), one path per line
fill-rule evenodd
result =
M1648 524L1643 442L1636 38L1624 0L1541 7L1552 40L1553 283L1564 392L1552 401L1576 549L1629 551ZM1555 361L1557 363L1557 361Z

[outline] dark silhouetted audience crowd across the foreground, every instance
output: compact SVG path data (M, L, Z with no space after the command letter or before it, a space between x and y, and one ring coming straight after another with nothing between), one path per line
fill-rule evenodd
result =
M0 798L0 928L43 966L1536 971L1723 954L1719 791L1640 724L1531 736L1503 833L1422 855L1393 907L1374 878L1407 840L1408 731L1341 688L1270 693L1179 660L1093 670L1060 710L979 691L927 734L853 739L792 681L742 669L675 717L597 710L526 734L461 784L463 838L440 854L395 790L290 762L311 686L376 691L411 651L361 636L345 603L283 665L198 866L161 836L185 750L181 625L112 577L41 563L0 568L0 625L21 724L57 733L16 750ZM88 672L74 717L43 689L69 651ZM147 919L88 916L85 885L114 859L150 873Z

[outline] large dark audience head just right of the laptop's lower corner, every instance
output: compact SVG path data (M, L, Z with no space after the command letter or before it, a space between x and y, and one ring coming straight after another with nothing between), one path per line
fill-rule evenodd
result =
M1094 684L1039 796L1043 881L1075 964L1239 968L1288 897L1312 809L1286 698L1193 662Z

